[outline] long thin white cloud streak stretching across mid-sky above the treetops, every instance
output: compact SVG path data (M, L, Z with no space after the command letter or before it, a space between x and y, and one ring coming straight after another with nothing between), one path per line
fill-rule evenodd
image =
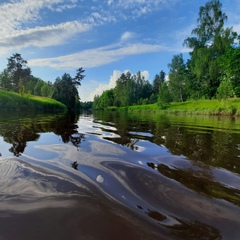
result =
M123 47L110 45L95 49L84 50L75 54L70 54L55 58L32 59L28 61L29 66L48 66L54 69L76 69L92 68L106 65L118 61L128 55L137 55L150 52L160 52L163 47L160 45L150 45L135 43Z

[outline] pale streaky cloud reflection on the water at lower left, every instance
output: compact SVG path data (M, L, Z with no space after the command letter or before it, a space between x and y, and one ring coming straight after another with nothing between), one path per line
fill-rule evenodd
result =
M53 175L44 168L20 159L7 158L0 161L0 210L69 207L75 200L64 198L76 194L83 194L80 184Z

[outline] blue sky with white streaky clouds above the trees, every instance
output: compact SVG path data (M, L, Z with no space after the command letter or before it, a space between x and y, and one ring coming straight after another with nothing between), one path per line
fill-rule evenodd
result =
M54 82L85 70L81 101L114 88L126 71L151 83L168 74L206 0L0 0L0 72L20 53L32 75ZM221 0L225 27L240 34L240 0Z

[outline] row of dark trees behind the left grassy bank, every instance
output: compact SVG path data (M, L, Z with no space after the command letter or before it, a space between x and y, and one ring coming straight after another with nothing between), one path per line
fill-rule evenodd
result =
M85 70L82 68L76 70L75 77L64 73L52 83L33 76L21 54L15 53L7 60L7 67L0 73L0 89L17 92L21 96L36 95L53 98L64 103L71 110L80 108L77 87L85 77L83 74Z

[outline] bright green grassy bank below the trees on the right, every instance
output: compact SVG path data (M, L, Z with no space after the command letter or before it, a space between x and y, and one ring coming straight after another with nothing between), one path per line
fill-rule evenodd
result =
M129 112L169 112L185 114L204 114L204 115L223 115L240 116L240 98L230 98L225 101L219 100L196 100L187 102L175 102L166 106L164 109L157 104L136 105L129 107L111 107L109 110L128 110Z

